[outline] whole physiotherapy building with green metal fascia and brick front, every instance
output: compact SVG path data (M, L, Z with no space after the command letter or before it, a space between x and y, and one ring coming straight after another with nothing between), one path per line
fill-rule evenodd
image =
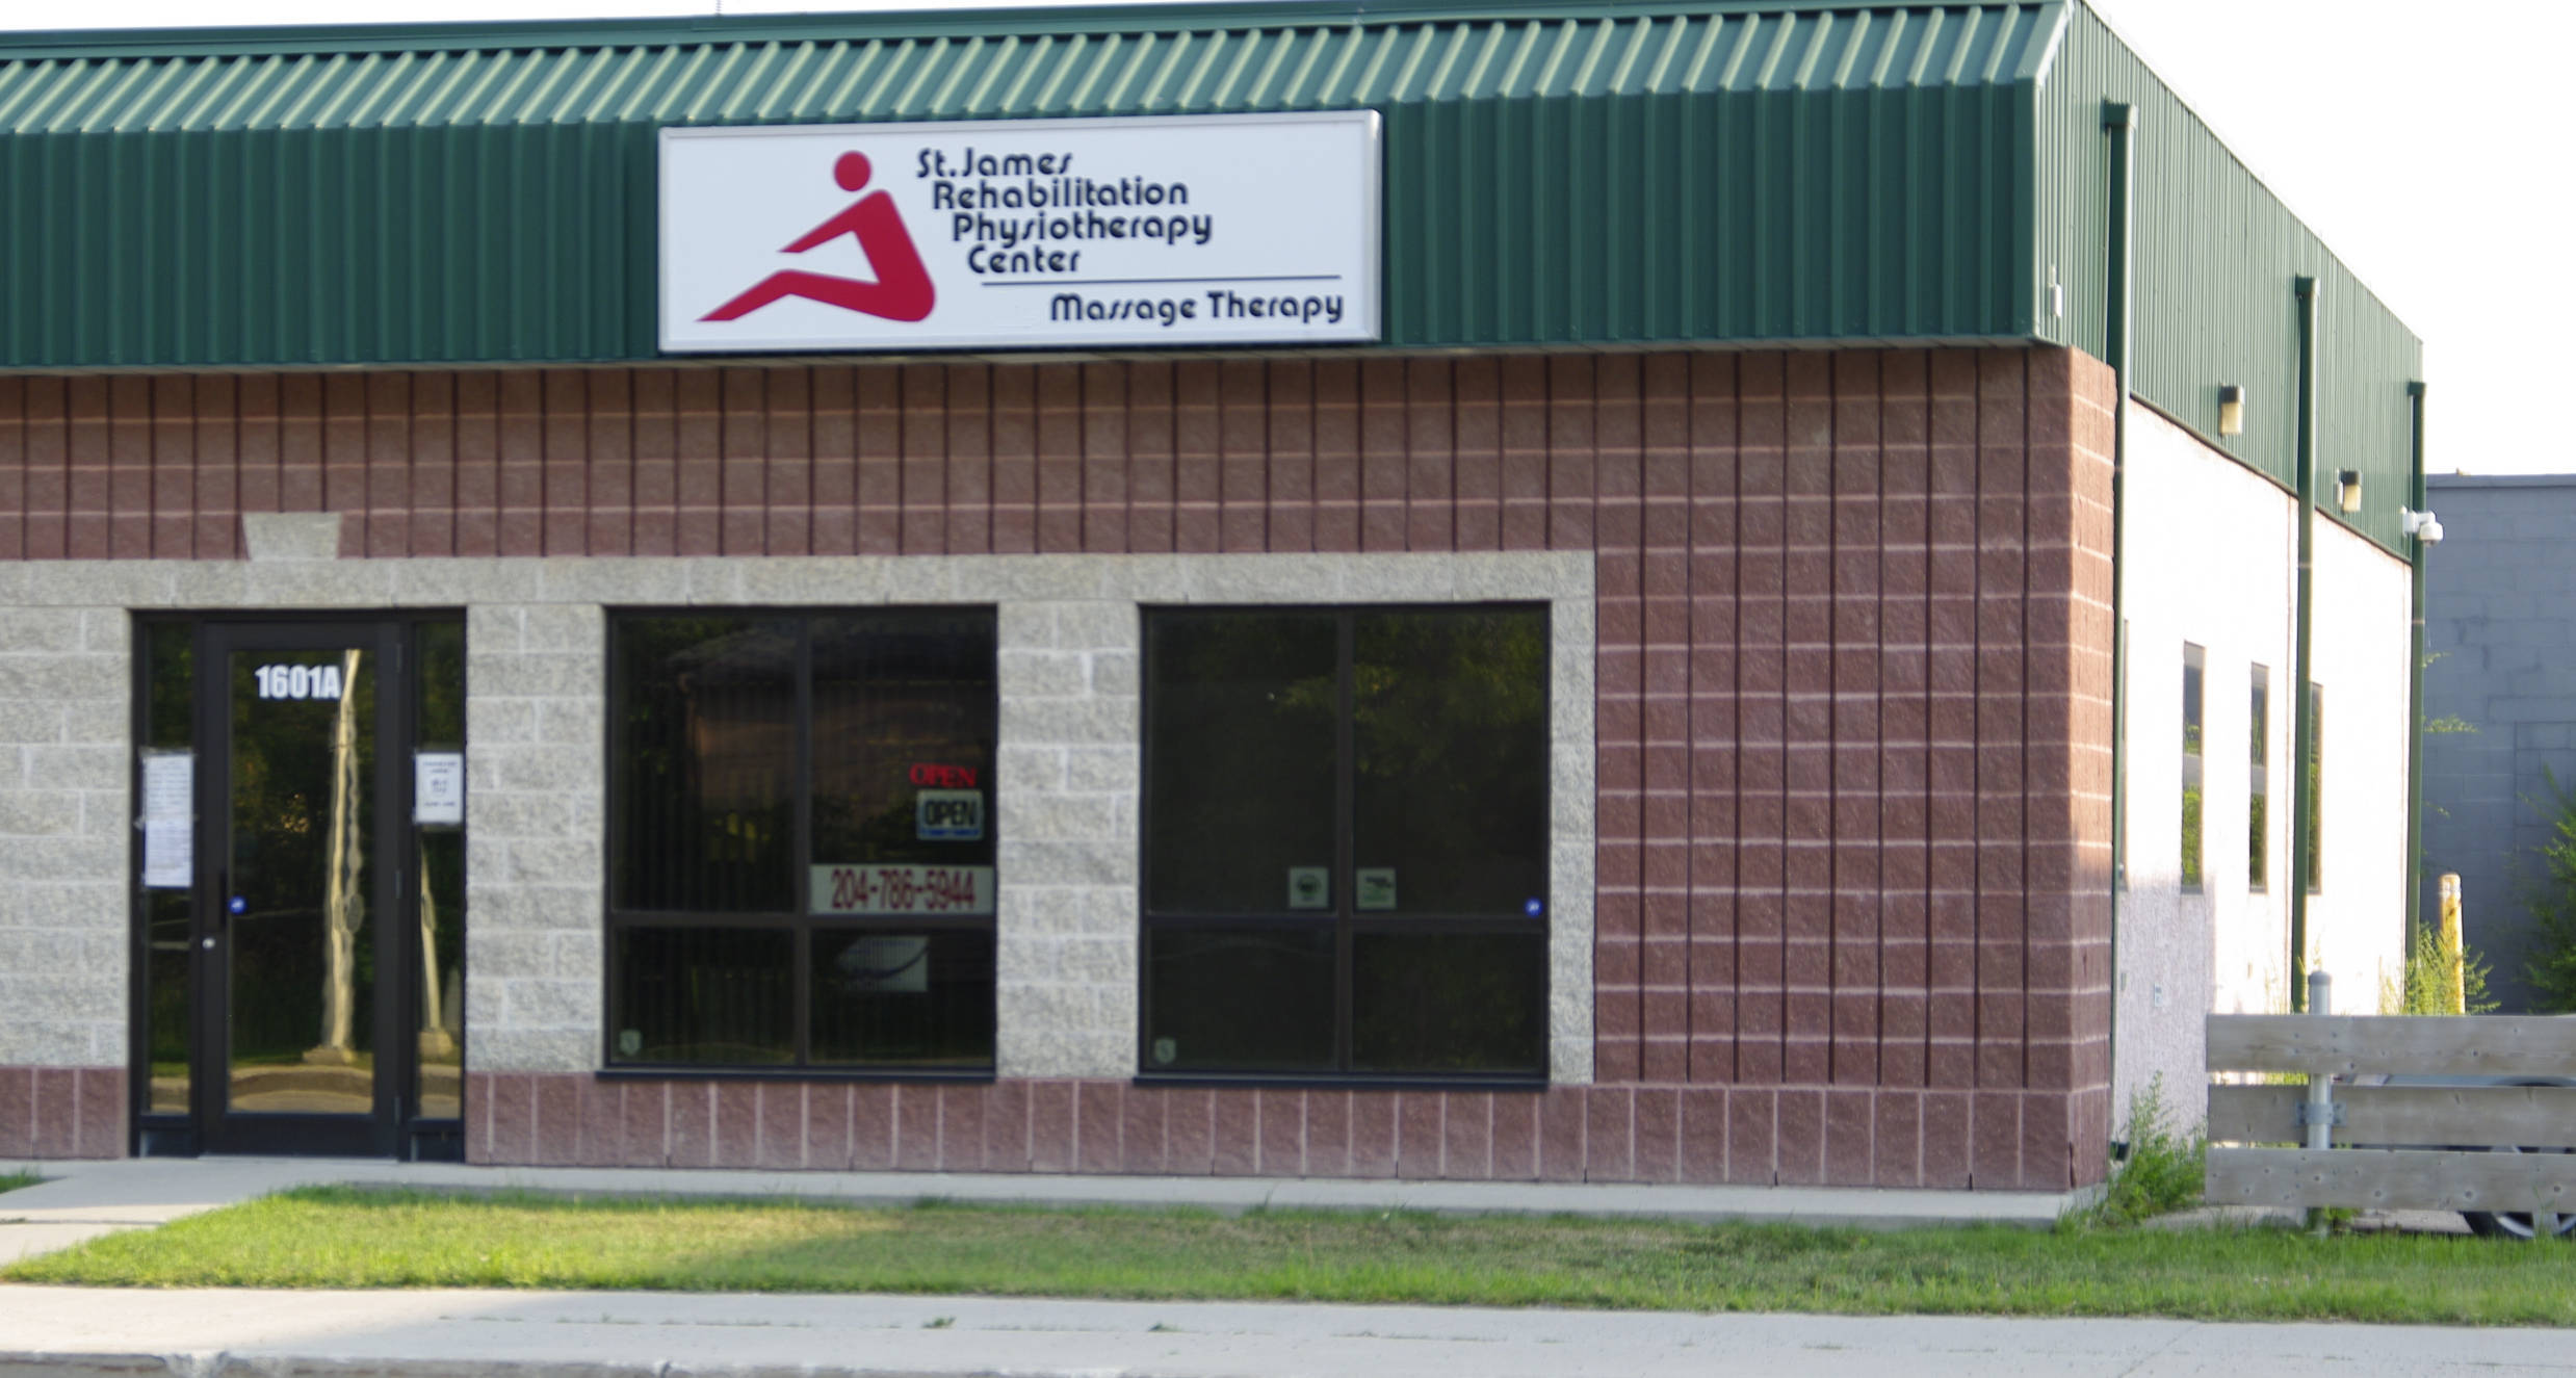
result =
M2069 1190L2393 961L2416 343L2081 5L49 36L0 121L0 1154Z

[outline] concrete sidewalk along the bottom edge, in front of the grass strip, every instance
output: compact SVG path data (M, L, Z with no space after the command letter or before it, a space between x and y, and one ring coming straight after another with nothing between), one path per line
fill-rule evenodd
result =
M2566 1375L2566 1332L886 1296L0 1288L0 1373L149 1378Z

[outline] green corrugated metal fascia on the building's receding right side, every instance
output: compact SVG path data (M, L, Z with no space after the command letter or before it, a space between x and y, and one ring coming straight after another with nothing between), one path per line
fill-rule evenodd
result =
M2110 142L2102 103L2138 108L2138 361L2133 392L2280 484L2298 482L2298 314L2293 281L2318 281L2318 492L2362 474L2362 513L2336 520L2403 554L2398 507L2414 471L2406 384L2424 345L2239 162L2143 62L2076 8L2040 82L2040 209L2030 268L2066 286L2040 337L2105 353ZM2218 435L2218 389L2246 389L2244 435Z

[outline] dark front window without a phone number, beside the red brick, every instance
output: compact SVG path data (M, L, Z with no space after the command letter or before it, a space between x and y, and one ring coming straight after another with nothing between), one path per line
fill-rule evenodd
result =
M1149 610L1144 713L1144 1074L1546 1074L1546 608Z

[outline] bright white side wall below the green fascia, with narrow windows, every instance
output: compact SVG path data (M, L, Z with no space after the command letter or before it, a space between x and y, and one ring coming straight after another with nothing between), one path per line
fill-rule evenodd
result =
M2290 760L2298 500L2130 404L2123 477L2128 886L2112 976L2112 1105L2164 1077L2197 1120L2208 1012L2290 1007ZM2406 912L2406 564L2316 520L2313 677L2324 688L2324 889L2311 953L2334 1005L2372 1012ZM2202 647L2202 883L2182 886L2182 647ZM2249 883L2251 667L2269 670L2267 886Z

